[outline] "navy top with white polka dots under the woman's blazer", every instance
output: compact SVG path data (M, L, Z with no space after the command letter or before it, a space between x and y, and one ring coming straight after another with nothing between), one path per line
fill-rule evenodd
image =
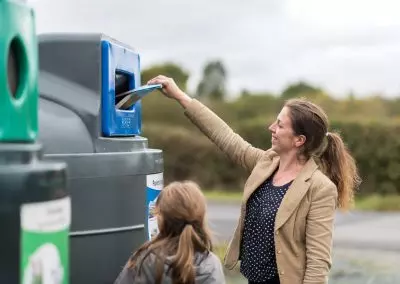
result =
M240 271L249 281L263 282L278 275L274 243L275 216L290 184L274 186L271 177L247 201Z

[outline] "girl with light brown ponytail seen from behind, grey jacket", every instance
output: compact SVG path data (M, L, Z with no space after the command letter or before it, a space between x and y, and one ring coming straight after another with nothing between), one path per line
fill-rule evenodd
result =
M221 262L211 252L199 187L171 183L161 191L155 211L159 234L136 251L114 284L225 283Z

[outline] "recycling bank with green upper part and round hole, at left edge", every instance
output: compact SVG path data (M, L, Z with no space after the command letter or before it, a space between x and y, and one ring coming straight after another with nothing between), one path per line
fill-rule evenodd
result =
M0 283L69 282L66 165L42 159L34 13L0 0Z

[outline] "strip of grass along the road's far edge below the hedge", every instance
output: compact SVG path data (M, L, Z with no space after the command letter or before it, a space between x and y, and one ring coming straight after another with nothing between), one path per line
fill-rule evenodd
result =
M205 190L209 201L240 202L241 191ZM400 211L400 195L370 195L356 198L355 210L362 211Z

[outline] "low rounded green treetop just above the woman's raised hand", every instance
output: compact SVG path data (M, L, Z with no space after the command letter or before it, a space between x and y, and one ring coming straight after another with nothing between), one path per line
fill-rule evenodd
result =
M189 73L186 72L180 66L167 62L164 64L153 65L142 71L142 84L146 84L150 79L158 76L165 75L175 80L176 84L183 90L186 91L187 81L189 79Z

